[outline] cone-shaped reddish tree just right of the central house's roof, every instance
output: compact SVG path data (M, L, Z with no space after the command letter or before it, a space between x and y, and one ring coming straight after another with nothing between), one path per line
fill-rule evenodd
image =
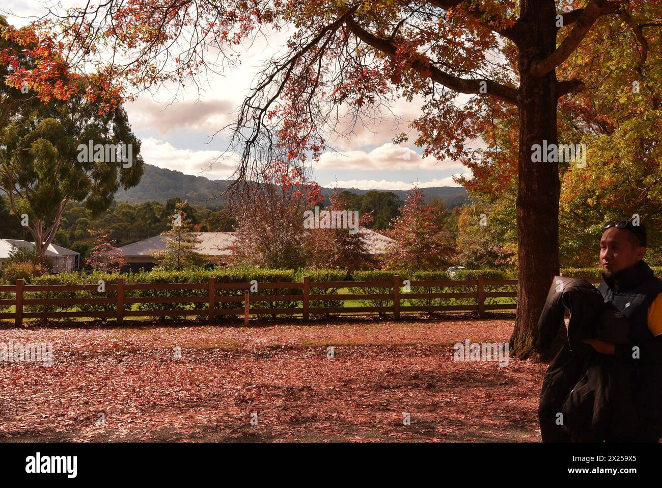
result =
M440 227L442 212L426 204L423 192L412 188L401 215L386 233L395 242L384 256L386 269L408 271L444 271L451 264L455 242L450 229Z

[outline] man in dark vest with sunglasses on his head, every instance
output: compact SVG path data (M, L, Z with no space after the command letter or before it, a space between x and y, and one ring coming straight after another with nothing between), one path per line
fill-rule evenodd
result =
M598 353L625 360L638 427L628 440L659 442L662 437L662 280L643 261L646 229L632 219L602 227L598 287L604 301L628 318L630 340L616 344L585 339Z

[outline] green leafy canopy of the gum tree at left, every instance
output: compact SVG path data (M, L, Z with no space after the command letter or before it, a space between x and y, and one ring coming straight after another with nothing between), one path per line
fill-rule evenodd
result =
M101 111L84 93L81 88L64 101L24 103L0 131L0 189L40 254L53 241L68 202L101 212L120 185L130 188L142 175L140 141L124 109ZM81 157L88 145L111 151ZM122 160L119 147L130 148L130 158Z

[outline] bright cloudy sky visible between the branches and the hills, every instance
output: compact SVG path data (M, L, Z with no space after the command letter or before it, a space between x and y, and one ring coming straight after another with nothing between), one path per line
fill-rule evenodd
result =
M66 0L75 5L77 0ZM48 3L48 2L47 2ZM23 25L30 15L43 11L40 0L0 0L0 13L14 25ZM242 52L242 63L227 70L223 76L208 77L199 88L186 86L175 91L162 88L141 93L126 105L130 123L142 141L141 154L150 164L186 174L211 179L227 178L232 174L236 158L226 155L224 160L211 164L227 146L218 129L232 123L235 111L248 93L253 80L279 46L287 33L270 36L270 42L260 41ZM379 188L408 190L412 184L426 186L457 186L453 174L465 173L467 168L453 161L423 158L420 148L410 142L393 145L397 133L407 132L408 121L416 116L420 101L398 100L392 107L401 121L387 117L377 127L355 127L350 139L331 139L335 151L327 151L313 168L312 176L322 186Z

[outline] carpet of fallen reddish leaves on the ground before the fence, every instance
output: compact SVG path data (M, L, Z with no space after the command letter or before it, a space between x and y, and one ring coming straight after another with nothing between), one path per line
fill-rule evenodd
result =
M0 342L53 343L54 362L0 363L0 440L536 442L544 364L453 361L454 343L511 332L512 320L2 329Z

